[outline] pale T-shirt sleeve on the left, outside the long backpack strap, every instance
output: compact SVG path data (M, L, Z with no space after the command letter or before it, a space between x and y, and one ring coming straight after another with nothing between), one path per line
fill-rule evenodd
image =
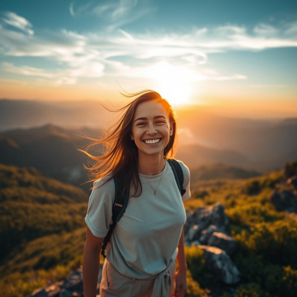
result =
M94 181L94 187L103 184L106 179ZM98 189L92 189L85 222L94 236L105 237L112 224L112 207L115 198L113 179Z

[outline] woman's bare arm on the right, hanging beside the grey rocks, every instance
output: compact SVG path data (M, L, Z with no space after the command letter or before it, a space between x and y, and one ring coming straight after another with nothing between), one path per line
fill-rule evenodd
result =
M187 292L187 261L184 252L184 228L178 242L177 253L178 271L175 273L176 289L173 296L184 297Z

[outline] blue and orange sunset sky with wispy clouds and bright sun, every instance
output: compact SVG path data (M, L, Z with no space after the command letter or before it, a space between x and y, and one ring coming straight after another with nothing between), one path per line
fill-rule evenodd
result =
M297 1L1 1L0 98L297 116Z

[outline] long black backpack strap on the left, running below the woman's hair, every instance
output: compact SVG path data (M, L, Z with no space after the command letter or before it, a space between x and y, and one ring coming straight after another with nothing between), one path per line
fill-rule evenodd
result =
M119 221L121 216L123 215L129 200L129 190L126 190L124 196L122 196L122 192L124 189L124 177L123 176L115 176L113 178L114 186L115 186L115 199L112 208L112 224L109 227L108 233L106 234L103 244L101 255L106 258L105 248L108 242L110 241L111 233L113 232L113 228L116 226L116 223Z

